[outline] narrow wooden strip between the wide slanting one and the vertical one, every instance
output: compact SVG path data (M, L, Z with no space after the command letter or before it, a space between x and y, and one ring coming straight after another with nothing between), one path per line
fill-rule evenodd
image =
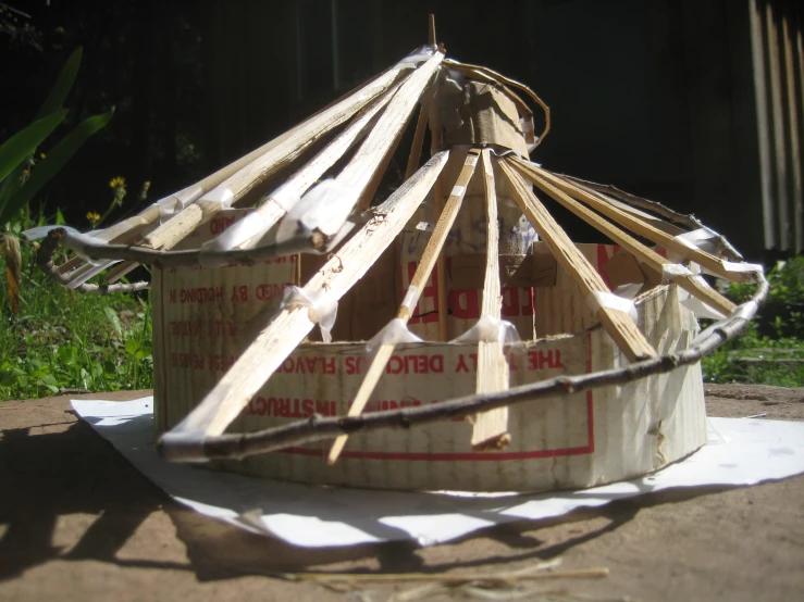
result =
M453 191L449 195L449 199L447 200L446 205L444 206L444 211L438 217L438 221L435 224L435 228L433 229L433 234L431 235L430 240L428 241L428 246L424 249L424 254L422 255L421 261L416 268L413 278L410 280L408 292L405 296L405 299L399 306L399 311L396 314L396 316L403 321L403 324L407 325L408 321L410 319L410 316L413 313L413 308L416 308L417 303L419 302L419 296L421 294L421 291L424 289L428 280L430 279L430 276L432 275L436 259L441 256L444 243L446 242L447 236L449 236L449 230L452 229L453 224L455 224L455 218L458 216L458 212L460 211L461 204L463 203L466 188L469 185L469 180L472 179L472 175L474 174L474 168L478 163L478 154L479 151L477 149L472 149L471 151L469 151L469 154L467 155L467 159L463 163L463 167L461 168L458 176L458 180L453 187ZM383 342L378 349L376 354L371 361L371 365L366 373L366 378L363 378L362 382L360 384L360 389L358 390L357 396L355 396L355 401L352 401L351 405L349 406L349 416L359 416L362 413L366 404L369 402L371 393L374 392L374 388L382 377L385 365L388 363L388 360L394 353L394 349L396 349L396 342L393 341ZM335 442L330 450L330 455L327 456L327 462L330 464L334 464L337 461L341 452L344 449L344 446L346 446L347 439L348 435L342 435L337 439L335 439Z

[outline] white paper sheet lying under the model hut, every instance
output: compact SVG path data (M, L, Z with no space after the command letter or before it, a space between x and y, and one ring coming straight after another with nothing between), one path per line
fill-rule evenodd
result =
M307 548L391 540L432 545L493 525L552 518L663 489L747 486L804 473L804 423L709 418L709 443L689 459L593 489L479 494L321 488L162 462L153 444L153 398L73 401L73 407L177 502Z

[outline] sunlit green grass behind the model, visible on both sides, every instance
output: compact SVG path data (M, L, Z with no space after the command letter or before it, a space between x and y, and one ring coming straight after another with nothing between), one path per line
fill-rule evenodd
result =
M11 313L5 287L0 284L0 400L37 398L65 389L151 388L147 297L67 290L36 266L32 243L21 242L18 314ZM804 386L804 258L780 262L768 280L768 301L746 334L704 358L707 382ZM737 302L752 293L749 285L731 285L728 290Z

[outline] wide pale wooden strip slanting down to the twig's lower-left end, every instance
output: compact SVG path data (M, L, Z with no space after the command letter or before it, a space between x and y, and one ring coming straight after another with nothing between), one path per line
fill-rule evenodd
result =
M374 218L307 283L304 292L336 301L349 290L401 231L433 187L448 155L448 151L444 151L433 156L376 208ZM309 309L281 310L203 401L172 434L163 437L175 437L181 446L181 441L200 444L203 436L222 434L313 326Z

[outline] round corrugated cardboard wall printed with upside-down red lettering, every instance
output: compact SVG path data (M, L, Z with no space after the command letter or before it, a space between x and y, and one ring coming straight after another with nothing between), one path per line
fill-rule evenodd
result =
M223 225L242 214L238 210L223 212ZM611 247L580 247L598 269L615 254ZM396 256L389 254L383 261L384 265L367 274L369 288L350 293L354 299L342 303L342 310L354 303L338 318L350 322L349 331L369 318L358 309L366 303L361 296L372 286L387 286L398 275ZM268 323L294 274L293 258L251 267L154 268L158 429L178 423L221 378ZM510 351L511 385L607 369L624 361L608 335L594 325L585 300L573 287L559 266L555 286L533 289L536 324L544 330L552 328L553 334L561 325L572 329L562 330L565 336L558 338L529 342L520 353ZM395 305L404 288L393 290ZM380 291L368 303L385 311L392 308L388 299ZM426 305L420 304L422 310ZM659 353L687 348L697 331L693 314L679 303L675 287L643 296L639 313L640 328ZM475 321L461 318L450 327L467 329ZM473 344L399 346L368 411L438 403L472 393L475 361ZM312 413L346 414L368 362L362 343L302 343L230 430L268 428ZM624 387L519 404L510 409L509 425L512 441L502 452L472 452L471 425L446 421L410 430L352 435L333 467L325 462L325 442L221 466L300 482L388 489L536 491L611 482L659 468L705 442L701 371L697 365L689 366Z

